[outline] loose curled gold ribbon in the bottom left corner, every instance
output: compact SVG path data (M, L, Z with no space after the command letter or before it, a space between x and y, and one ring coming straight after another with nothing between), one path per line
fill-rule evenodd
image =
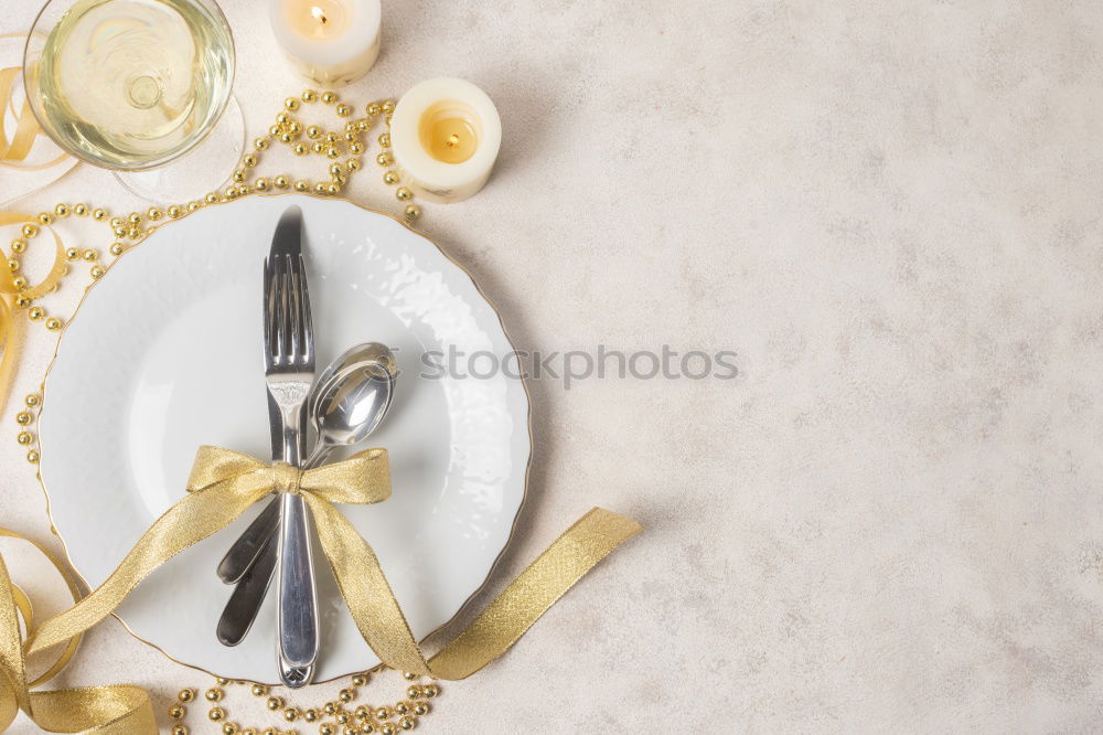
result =
M62 561L30 539L0 529L0 536L20 539L42 552L68 585L73 599L81 597L76 576ZM156 733L157 720L149 695L138 686L82 686L33 692L53 679L76 652L81 636L71 638L61 657L34 681L28 683L19 618L28 630L34 626L31 601L8 576L0 557L0 732L11 725L20 710L42 729L51 733L110 733L133 735Z

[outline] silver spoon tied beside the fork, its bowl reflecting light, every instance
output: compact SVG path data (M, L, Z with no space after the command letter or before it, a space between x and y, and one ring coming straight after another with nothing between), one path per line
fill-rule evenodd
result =
M375 430L390 407L396 370L394 355L385 345L371 343L353 348L338 358L331 366L342 364L343 369L330 373L326 380L318 383L321 387L317 392L317 398L308 404L318 439L314 450L303 462L304 468L322 464L330 452L340 446L352 446L363 441ZM268 524L258 524L254 521L226 555L226 558L234 555L235 548L243 541L247 547L258 550L247 563L245 572L238 575L237 586L218 620L217 637L224 646L236 646L248 633L271 582L279 556L276 534L279 503L274 501L260 513L264 515L272 508L275 508L276 523L270 524L268 535L257 541L245 540L245 536L255 530L263 532L268 528ZM223 560L223 564L226 563L226 558ZM219 576L222 566L219 565ZM292 668L288 670L299 672L301 683L310 680L309 671ZM283 677L288 684L292 684L295 679L296 677L291 677L291 680Z

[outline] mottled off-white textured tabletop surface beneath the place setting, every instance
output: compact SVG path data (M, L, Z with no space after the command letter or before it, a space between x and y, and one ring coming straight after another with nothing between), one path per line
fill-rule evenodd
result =
M259 130L300 85L256 4L225 2ZM419 732L1100 729L1100 4L386 2L347 96L446 74L502 156L421 226L520 347L727 348L741 377L533 383L492 592L592 504L646 531ZM0 452L3 522L45 536ZM117 625L64 677L127 680L202 677Z

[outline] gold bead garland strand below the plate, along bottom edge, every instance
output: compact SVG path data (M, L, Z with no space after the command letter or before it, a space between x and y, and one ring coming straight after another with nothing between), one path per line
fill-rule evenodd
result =
M379 671L383 667L375 669ZM399 731L409 731L417 727L419 718L431 712L427 700L436 697L440 693L440 688L436 682L421 683L420 677L405 672L403 678L407 682L413 682L406 688L406 699L389 706L373 706L360 704L353 709L345 705L354 702L360 695L360 690L370 681L371 673L363 672L350 679L350 685L338 692L335 700L331 700L317 706L300 706L287 703L282 696L271 694L270 688L264 684L250 684L249 693L256 697L265 699L265 707L275 716L280 717L283 724L307 723L311 728L317 728L319 735L396 735ZM205 699L214 704L207 710L207 720L221 723L223 735L299 735L298 729L282 729L277 726L242 726L236 722L231 722L229 710L225 705L224 699L227 694L225 688L229 684L246 685L246 682L231 682L226 679L217 679L216 685L206 690ZM188 715L184 706L196 700L196 689L181 690L176 695L176 702L169 705L169 718L176 722L172 728L173 735L188 735L188 726L181 721Z

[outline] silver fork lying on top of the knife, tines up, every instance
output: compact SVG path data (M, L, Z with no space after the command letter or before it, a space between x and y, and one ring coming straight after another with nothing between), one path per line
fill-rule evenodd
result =
M304 406L314 379L310 298L302 255L297 251L298 243L293 248L272 243L265 262L264 329L265 380L282 424L282 451L274 459L295 467L302 461ZM318 657L319 635L310 518L300 496L281 493L280 519L277 650L285 683L302 686Z

